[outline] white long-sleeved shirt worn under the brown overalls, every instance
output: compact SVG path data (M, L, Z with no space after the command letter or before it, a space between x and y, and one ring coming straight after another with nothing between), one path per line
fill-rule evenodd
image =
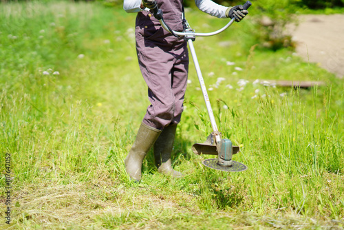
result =
M142 0L124 0L123 8L128 13L144 11L140 8ZM211 0L195 0L196 6L206 12L218 18L226 18L226 10L228 7L221 6ZM146 9L145 9L146 10Z

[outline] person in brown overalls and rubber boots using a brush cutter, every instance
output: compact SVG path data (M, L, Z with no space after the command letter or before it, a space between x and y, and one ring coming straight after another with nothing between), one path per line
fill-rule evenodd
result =
M247 10L243 6L225 7L211 0L195 0L197 7L218 18L235 17L241 21ZM136 51L151 105L138 129L136 140L125 158L125 169L131 180L141 180L144 157L153 146L155 166L162 174L182 175L171 165L175 130L183 112L189 56L187 43L162 28L149 9L158 6L164 21L172 30L182 31L182 0L124 0L126 12L137 13Z

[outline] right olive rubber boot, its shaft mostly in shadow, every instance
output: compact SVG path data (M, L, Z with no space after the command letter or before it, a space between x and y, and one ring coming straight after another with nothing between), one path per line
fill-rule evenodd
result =
M179 171L173 170L171 165L171 153L175 138L175 129L177 129L177 125L169 125L162 129L162 133L154 144L154 159L155 166L158 168L160 174L180 178L183 174Z

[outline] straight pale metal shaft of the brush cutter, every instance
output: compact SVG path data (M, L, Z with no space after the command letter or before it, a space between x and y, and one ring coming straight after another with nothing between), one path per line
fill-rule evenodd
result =
M200 81L204 101L206 102L206 109L208 110L209 118L211 119L211 127L213 127L213 132L216 134L218 132L218 129L217 129L217 125L215 122L213 109L211 109L211 102L209 101L208 92L206 92L206 85L204 83L200 64L198 63L195 48L193 47L193 41L191 39L189 39L188 43L189 43L191 55L193 56L193 63L195 64L195 68L196 68L196 72L197 72L197 76L198 76L198 81ZM216 135L216 136L218 136L218 135Z

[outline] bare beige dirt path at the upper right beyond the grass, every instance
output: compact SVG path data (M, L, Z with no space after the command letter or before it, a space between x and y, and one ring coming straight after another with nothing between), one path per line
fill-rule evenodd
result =
M305 61L344 77L344 14L303 15L292 36Z

